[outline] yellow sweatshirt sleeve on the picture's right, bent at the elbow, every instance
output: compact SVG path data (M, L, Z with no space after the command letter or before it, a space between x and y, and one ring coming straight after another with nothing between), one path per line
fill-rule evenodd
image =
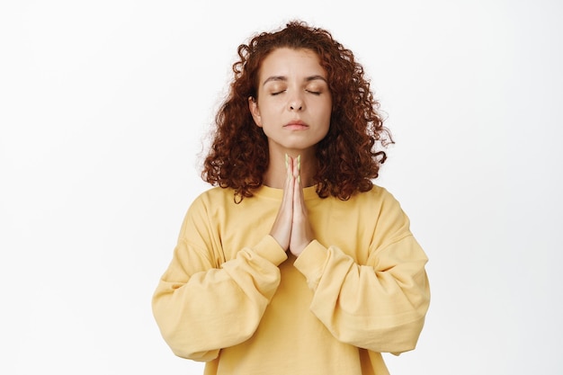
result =
M415 348L424 325L430 301L426 262L407 216L388 193L365 263L313 241L294 265L314 291L310 310L337 340L402 353Z

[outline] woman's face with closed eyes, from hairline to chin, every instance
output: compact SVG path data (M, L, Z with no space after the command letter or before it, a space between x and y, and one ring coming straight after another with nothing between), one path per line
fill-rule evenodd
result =
M309 49L274 49L260 68L258 97L248 103L270 152L314 150L330 126L332 96L326 72Z

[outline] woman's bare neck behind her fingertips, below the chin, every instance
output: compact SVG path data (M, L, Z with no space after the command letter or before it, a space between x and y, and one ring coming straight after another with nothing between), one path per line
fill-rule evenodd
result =
M266 173L264 174L264 185L275 189L283 189L287 176L287 169L285 167L285 154L287 154L294 160L297 160L297 156L301 156L301 184L303 185L303 187L313 186L313 176L315 175L317 168L317 157L315 156L315 150L284 150L273 152L272 149L270 150L270 163L268 165Z

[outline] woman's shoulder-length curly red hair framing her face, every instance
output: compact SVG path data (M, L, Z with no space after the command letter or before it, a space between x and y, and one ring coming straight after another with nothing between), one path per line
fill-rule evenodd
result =
M284 29L263 32L238 47L234 80L228 98L215 117L217 129L201 177L235 190L235 200L251 197L264 183L269 163L268 139L255 125L248 98L257 97L259 70L274 49L309 49L317 53L326 70L333 108L326 137L317 144L317 194L341 200L355 192L371 190L386 154L380 149L393 143L383 126L380 103L364 78L353 52L333 39L329 31L289 22Z

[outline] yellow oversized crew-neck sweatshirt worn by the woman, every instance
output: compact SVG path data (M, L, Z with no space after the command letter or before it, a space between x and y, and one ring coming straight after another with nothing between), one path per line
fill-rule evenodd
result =
M152 301L166 343L208 375L389 374L380 353L415 348L430 300L407 216L379 186L306 188L316 240L295 258L269 236L282 193L193 201Z

